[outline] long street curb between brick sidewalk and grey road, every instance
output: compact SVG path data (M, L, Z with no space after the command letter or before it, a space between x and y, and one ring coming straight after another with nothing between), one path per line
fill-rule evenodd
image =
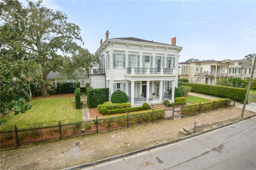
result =
M78 165L78 166L73 166L73 167L70 167L70 168L65 168L65 169L62 169L62 170L79 170L80 168L86 168L88 166L93 166L93 165L96 165L96 164L100 164L100 163L103 163L103 162L107 162L107 161L110 161L110 160L115 160L115 159L120 159L120 158L124 158L124 157L127 157L127 156L131 156L131 155L134 155L134 154L138 154L140 152L144 152L146 150L150 150L150 149L155 149L155 148L158 148L158 147L162 147L162 146L165 146L165 145L170 145L172 143L177 143L177 142L180 142L180 141L183 141L185 139L189 139L191 137L196 137L196 136L199 136L199 135L202 135L204 133L208 133L210 131L214 131L216 129L220 129L222 127L227 127L229 125L232 125L234 123L238 123L240 121L244 121L246 119L250 119L251 117L254 117L256 116L256 114L254 115L250 115L248 117L244 117L243 119L239 119L239 120L236 120L236 121L233 121L233 122L230 122L230 123L227 123L226 125L221 125L219 127L214 127L212 129L209 129L209 130L206 130L206 131L202 131L202 132L199 132L199 133L194 133L192 135L188 135L188 136L184 136L184 137L181 137L179 139L175 139L175 140L172 140L172 141L168 141L168 142L165 142L165 143L160 143L160 144L157 144L157 145L153 145L151 147L147 147L147 148L143 148L143 149L139 149L139 150L134 150L132 152L128 152L128 153L124 153L124 154L120 154L120 155L117 155L117 156L113 156L113 157L110 157L110 158L105 158L105 159L102 159L102 160L97 160L97 161L93 161L93 162L88 162L86 164L81 164L81 165Z

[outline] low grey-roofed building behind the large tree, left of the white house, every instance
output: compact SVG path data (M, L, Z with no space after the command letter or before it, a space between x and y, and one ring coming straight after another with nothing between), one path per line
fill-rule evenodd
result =
M59 76L59 72L50 71L46 80L48 83L53 84L57 82L76 82L76 80L56 80L56 77ZM89 77L86 74L78 74L78 80L80 82L80 87L85 87L86 83L89 83Z

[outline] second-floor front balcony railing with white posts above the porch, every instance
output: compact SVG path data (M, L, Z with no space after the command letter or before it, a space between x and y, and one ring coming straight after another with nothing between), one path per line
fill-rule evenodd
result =
M173 74L173 68L135 68L129 67L127 69L127 74Z

